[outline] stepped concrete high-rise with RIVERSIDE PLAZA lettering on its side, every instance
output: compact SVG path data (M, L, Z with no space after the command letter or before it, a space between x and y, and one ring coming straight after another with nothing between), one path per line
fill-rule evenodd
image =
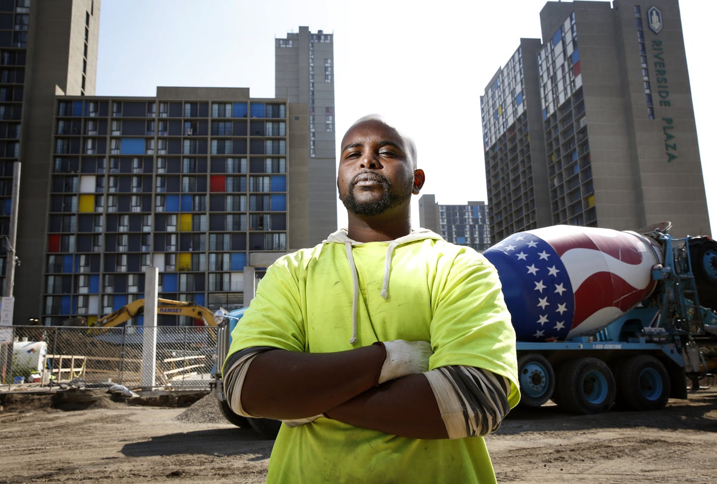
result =
M551 1L540 17L543 39L521 39L481 97L495 239L664 220L709 233L678 2Z

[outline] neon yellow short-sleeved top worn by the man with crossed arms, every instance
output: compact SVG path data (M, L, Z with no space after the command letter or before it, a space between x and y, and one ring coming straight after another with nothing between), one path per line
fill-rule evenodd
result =
M253 346L327 353L375 341L430 341L430 369L476 366L511 380L515 333L493 265L422 229L391 242L340 230L280 258L232 333L229 354ZM410 405L411 402L406 402ZM417 440L320 418L282 425L267 483L492 483L483 437Z

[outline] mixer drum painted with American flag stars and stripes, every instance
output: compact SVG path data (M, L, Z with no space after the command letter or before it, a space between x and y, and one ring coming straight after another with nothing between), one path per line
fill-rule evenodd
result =
M555 225L483 252L495 265L519 341L590 336L645 300L660 245L635 232Z

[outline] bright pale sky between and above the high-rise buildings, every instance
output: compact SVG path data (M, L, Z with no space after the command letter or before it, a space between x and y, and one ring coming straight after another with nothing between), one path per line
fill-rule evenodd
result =
M415 139L427 176L422 193L440 204L486 200L480 95L521 37L541 37L545 3L103 0L96 93L218 86L273 98L273 39L300 25L323 29L334 34L337 144L354 120L382 113ZM706 146L716 131L709 112L714 70L705 57L713 25L706 7L680 1L703 174L712 187L717 169ZM717 227L717 193L708 189L707 196ZM414 227L417 206L414 199ZM340 203L338 222L346 224Z

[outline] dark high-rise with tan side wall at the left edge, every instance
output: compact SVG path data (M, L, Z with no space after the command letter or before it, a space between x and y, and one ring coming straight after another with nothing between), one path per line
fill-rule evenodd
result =
M22 163L14 322L42 305L49 163L57 94L92 95L100 0L0 0L0 235L9 234L15 161ZM2 245L0 276L5 275Z

